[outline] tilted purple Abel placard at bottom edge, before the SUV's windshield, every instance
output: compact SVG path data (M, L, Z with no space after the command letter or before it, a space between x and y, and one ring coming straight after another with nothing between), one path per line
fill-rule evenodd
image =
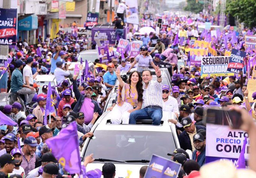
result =
M144 177L177 178L180 168L180 163L153 154Z

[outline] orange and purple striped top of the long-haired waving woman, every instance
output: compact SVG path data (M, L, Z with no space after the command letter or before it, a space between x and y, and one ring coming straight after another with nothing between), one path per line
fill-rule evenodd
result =
M136 106L137 100L138 100L138 93L136 87L132 88L129 84L124 84L123 87L125 87L125 99L122 100L121 96L121 87L118 86L117 91L117 105L122 106L124 102L130 103L133 107Z

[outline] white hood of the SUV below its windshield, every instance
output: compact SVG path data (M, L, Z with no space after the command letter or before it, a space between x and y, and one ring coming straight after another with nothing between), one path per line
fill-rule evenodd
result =
M86 171L94 170L94 169L100 169L102 171L102 166L104 163L90 163L86 166ZM130 177L139 177L140 175L140 168L142 166L145 166L144 164L116 164L116 175L115 177L118 178L125 178L130 174ZM103 176L101 176L103 178Z

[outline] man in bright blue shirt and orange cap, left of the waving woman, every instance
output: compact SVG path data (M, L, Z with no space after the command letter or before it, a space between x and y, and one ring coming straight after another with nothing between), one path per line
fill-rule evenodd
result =
M116 72L114 71L114 64L108 64L108 72L103 75L103 81L107 89L113 88L116 83Z

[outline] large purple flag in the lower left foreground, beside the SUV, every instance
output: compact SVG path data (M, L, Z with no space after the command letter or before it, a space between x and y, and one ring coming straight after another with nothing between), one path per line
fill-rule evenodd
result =
M46 144L65 171L70 174L81 174L76 121L61 129L59 135L47 139Z

